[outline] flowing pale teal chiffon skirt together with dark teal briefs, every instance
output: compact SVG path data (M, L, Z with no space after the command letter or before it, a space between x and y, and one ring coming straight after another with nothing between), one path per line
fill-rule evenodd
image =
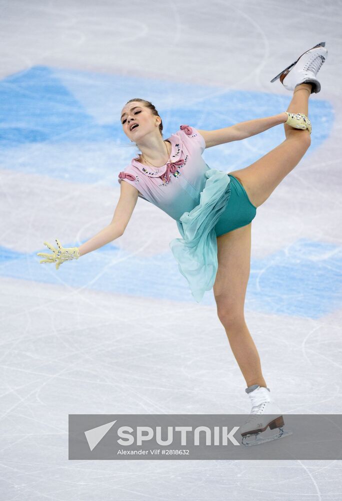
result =
M215 282L216 237L249 224L256 213L256 207L234 176L217 169L209 169L204 175L207 180L199 204L177 221L182 238L169 244L197 303Z

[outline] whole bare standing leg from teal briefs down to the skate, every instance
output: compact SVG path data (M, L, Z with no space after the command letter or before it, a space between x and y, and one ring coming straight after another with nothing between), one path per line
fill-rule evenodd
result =
M250 269L250 229L251 223L217 238L218 269L213 293L218 318L246 385L266 387L260 358L243 315Z

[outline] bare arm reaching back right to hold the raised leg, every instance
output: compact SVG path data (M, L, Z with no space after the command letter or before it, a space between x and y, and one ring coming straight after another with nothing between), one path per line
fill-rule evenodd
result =
M275 125L283 124L287 120L286 113L279 113L272 117L257 118L255 120L247 120L240 122L230 127L217 130L198 130L199 134L203 136L205 147L210 148L217 144L229 143L230 141L239 141L246 137L255 136L264 130L270 129Z

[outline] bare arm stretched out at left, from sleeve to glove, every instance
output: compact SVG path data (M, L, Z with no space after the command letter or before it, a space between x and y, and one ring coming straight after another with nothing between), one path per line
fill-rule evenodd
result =
M138 190L134 186L126 182L120 183L120 198L116 204L111 223L78 247L80 256L102 247L123 234L133 213L137 197Z

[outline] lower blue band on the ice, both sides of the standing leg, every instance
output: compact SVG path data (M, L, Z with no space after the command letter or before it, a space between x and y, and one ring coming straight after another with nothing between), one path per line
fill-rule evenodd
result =
M65 243L65 246L74 242ZM45 250L39 252L49 252ZM108 244L79 260L39 264L38 256L0 248L0 276L134 297L194 302L171 253L135 257ZM163 273L156 270L163 269ZM333 286L332 286L333 284ZM286 250L251 260L246 309L320 318L342 307L342 247L299 239ZM212 291L201 302L214 305Z

